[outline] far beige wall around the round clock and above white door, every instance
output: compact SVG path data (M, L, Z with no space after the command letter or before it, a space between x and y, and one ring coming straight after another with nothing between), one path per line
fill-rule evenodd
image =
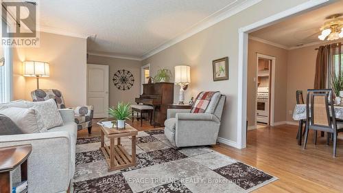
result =
M109 104L115 106L118 102L131 102L134 103L134 98L139 97L141 88L141 61L137 60L126 60L119 58L110 58L103 56L92 56L89 55L87 58L88 64L95 65L108 65L110 70L109 76ZM121 91L115 87L112 78L113 74L119 69L126 69L130 71L134 76L134 84L130 90Z

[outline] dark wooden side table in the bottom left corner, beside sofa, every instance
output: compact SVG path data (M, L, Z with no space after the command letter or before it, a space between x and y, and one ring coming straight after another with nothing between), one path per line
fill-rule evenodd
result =
M0 148L1 193L12 193L12 171L18 166L21 166L21 181L27 181L27 158L31 151L31 144Z

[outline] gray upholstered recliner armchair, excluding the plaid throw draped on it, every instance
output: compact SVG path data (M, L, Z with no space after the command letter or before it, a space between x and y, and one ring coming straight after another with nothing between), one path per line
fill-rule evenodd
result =
M191 113L191 109L168 109L165 137L176 148L216 144L226 95L219 92L204 113Z

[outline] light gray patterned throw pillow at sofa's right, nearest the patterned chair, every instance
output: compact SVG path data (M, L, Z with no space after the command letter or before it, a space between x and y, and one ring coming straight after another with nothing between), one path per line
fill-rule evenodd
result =
M54 128L63 124L62 117L58 111L54 99L38 102L27 102L27 105L36 110L38 115L37 122L43 123L43 126L38 124L40 132L45 132L49 128Z

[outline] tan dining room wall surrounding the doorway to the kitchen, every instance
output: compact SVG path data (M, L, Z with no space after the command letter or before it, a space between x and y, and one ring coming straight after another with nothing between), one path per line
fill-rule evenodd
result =
M287 103L287 49L274 47L249 39L248 42L248 96L247 96L247 119L248 126L255 125L256 110L256 77L257 53L274 56L275 61L275 95L274 95L274 122L286 120Z

